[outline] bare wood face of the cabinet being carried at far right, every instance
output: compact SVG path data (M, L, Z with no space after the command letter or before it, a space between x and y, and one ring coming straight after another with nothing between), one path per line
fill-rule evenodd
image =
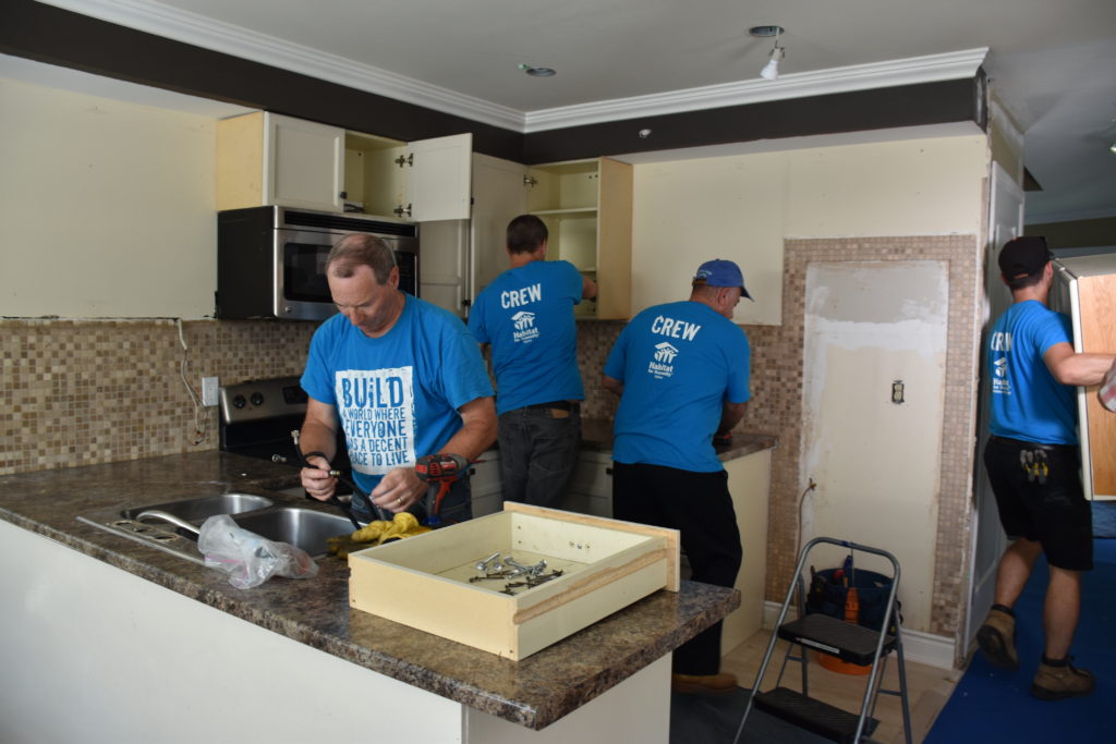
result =
M1116 274L1083 277L1078 280L1081 317L1081 349L1116 350ZM1089 433L1089 460L1093 467L1093 493L1116 496L1116 415L1106 410L1096 388L1086 395ZM1083 423L1084 424L1084 423ZM1085 466L1089 466L1086 463Z

